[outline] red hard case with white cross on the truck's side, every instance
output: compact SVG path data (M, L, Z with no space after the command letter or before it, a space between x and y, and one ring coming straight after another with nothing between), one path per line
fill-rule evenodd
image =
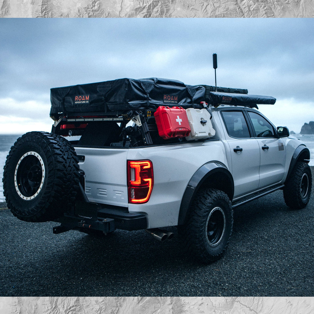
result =
M187 113L182 107L160 106L154 113L159 136L168 139L185 137L191 132Z

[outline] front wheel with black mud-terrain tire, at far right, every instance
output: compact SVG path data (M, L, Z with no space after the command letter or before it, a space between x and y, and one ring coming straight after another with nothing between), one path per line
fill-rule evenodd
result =
M284 201L292 209L306 207L311 197L312 172L305 162L297 162L284 187Z

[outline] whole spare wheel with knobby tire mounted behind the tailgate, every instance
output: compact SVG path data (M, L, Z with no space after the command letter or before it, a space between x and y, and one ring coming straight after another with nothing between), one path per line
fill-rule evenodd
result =
M3 194L17 218L50 221L73 208L78 157L65 138L46 132L26 133L11 147L3 169Z

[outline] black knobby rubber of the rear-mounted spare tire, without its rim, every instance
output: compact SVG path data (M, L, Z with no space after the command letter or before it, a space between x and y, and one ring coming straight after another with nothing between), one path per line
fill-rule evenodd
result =
M45 191L42 191L41 198L37 199L33 208L27 208L28 206L17 205L11 194L15 192L9 187L11 164L16 159L19 149L30 144L34 145L36 141L42 144L43 154L50 156L47 157L45 167L46 173L53 177L51 180L45 177ZM25 133L11 147L3 170L3 194L7 206L14 216L21 220L31 222L55 220L75 203L79 181L78 157L71 143L59 135L36 131Z

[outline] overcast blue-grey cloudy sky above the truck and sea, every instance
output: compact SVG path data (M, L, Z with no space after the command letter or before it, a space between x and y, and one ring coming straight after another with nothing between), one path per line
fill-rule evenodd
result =
M170 78L269 95L259 109L314 121L314 19L0 19L0 133L51 131L50 88Z

